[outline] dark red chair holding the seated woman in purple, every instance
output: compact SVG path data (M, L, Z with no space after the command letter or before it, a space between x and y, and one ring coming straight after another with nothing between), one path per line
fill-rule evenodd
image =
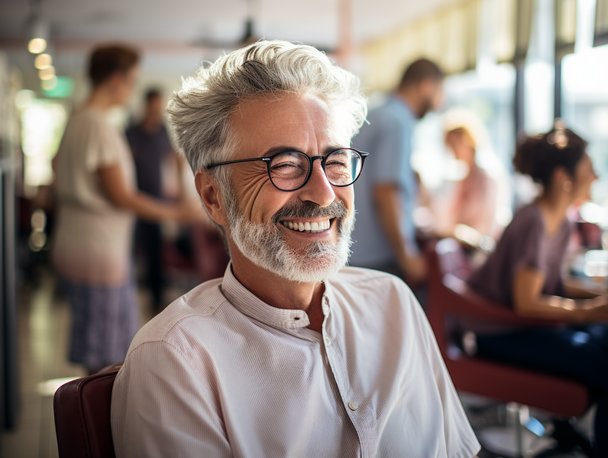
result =
M426 310L437 344L454 386L458 390L502 401L543 409L565 417L582 415L589 405L589 392L575 381L516 366L469 357L449 339L446 320L468 317L487 323L517 326L551 326L556 321L528 319L511 308L494 304L471 291L466 258L460 245L444 239L427 246L429 296Z

